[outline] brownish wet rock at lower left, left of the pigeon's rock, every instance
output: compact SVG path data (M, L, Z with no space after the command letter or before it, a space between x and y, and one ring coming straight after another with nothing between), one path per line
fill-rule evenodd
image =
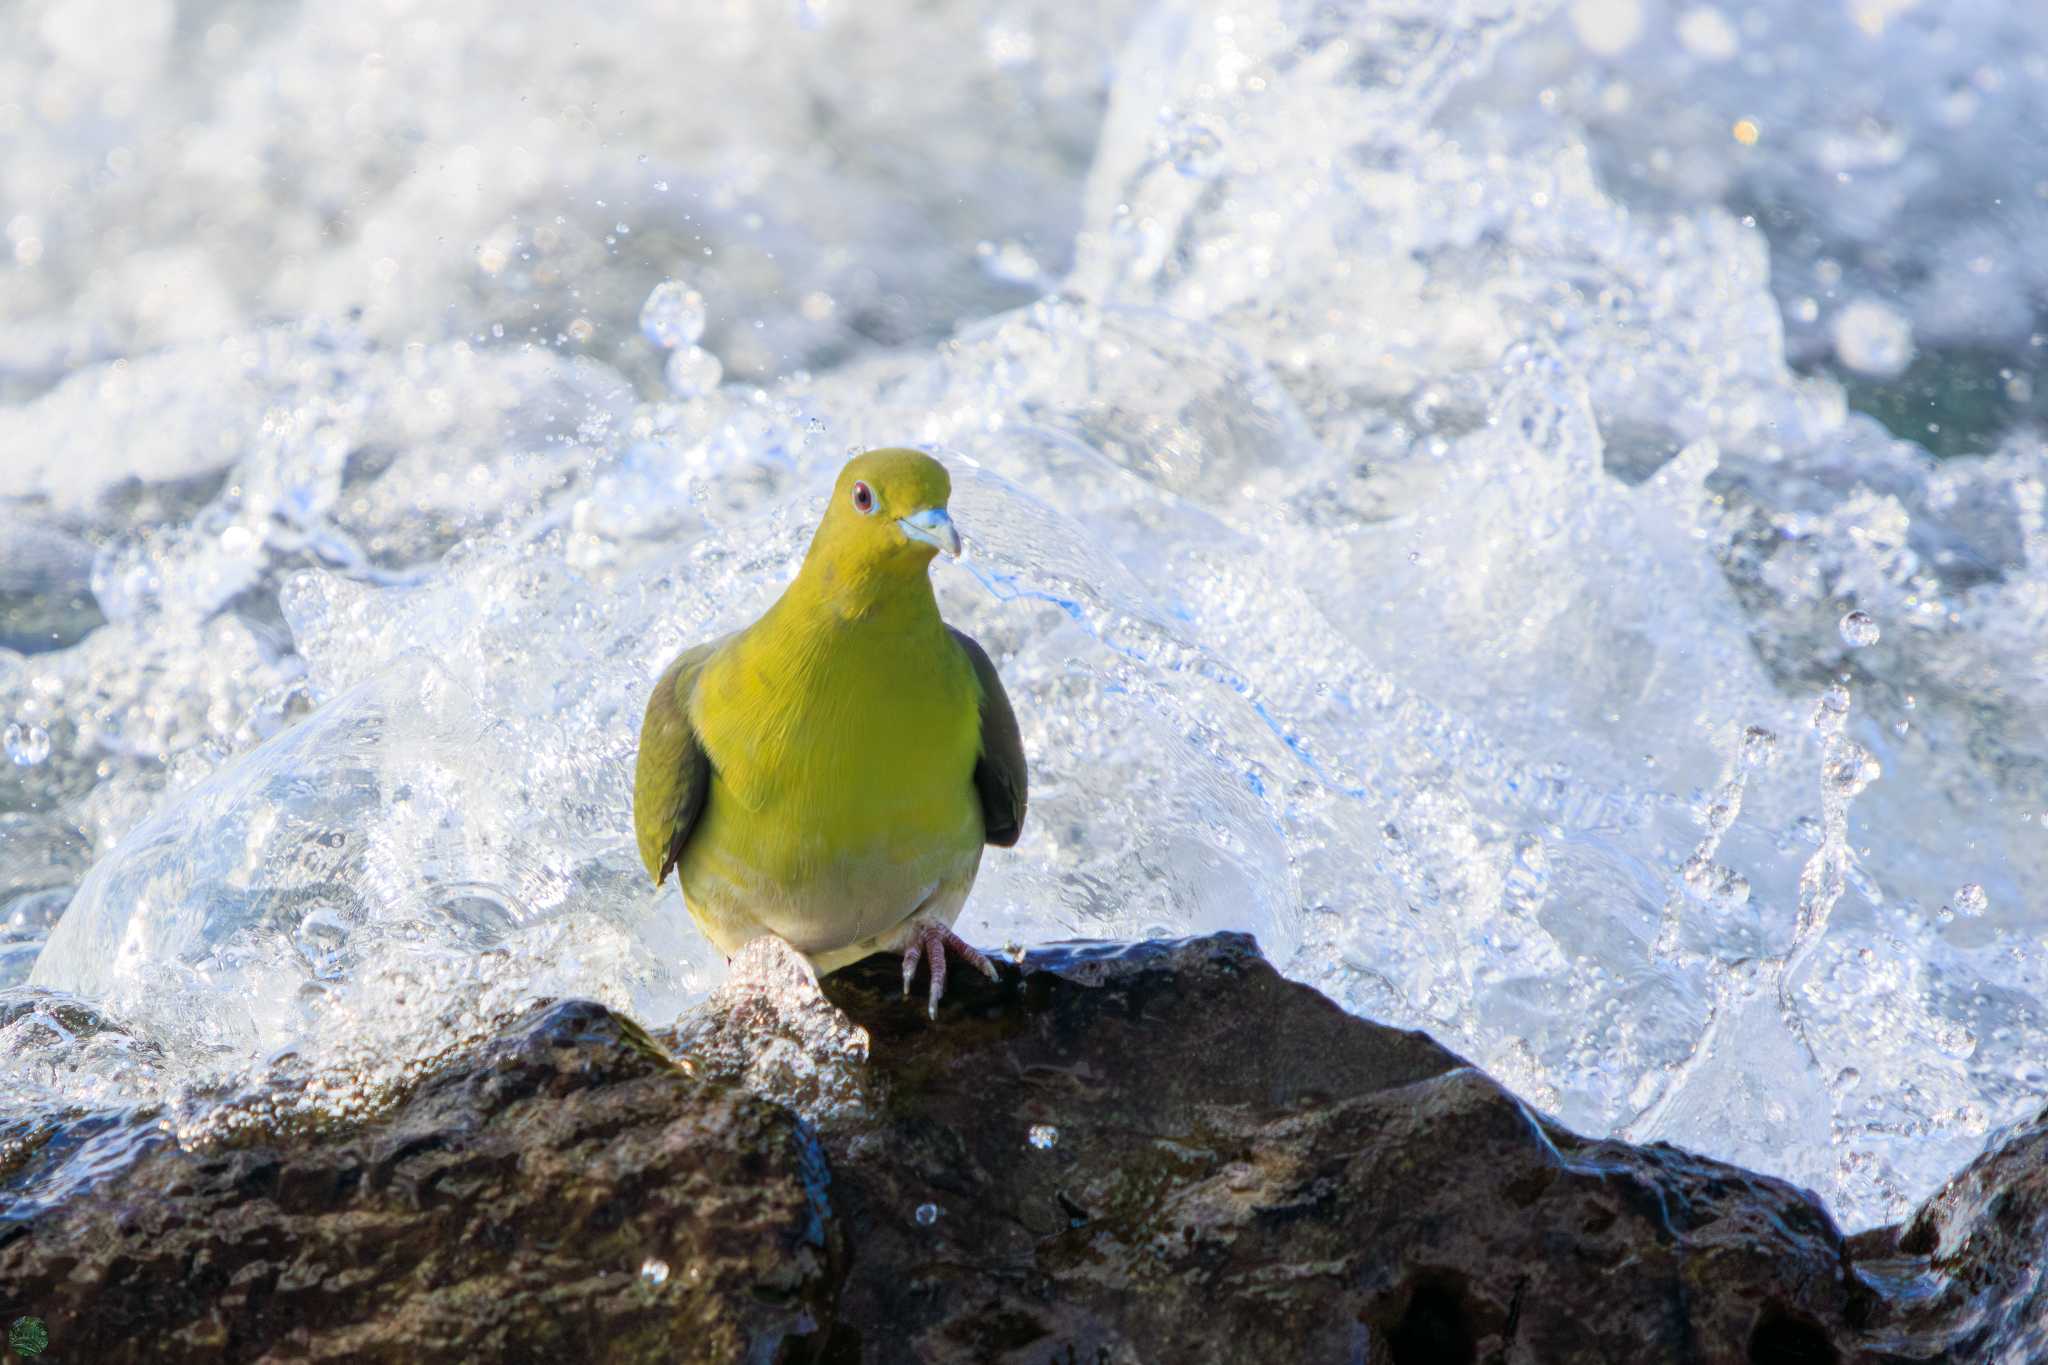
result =
M53 1361L805 1361L840 1277L803 1124L565 1003L383 1119L0 1220Z

